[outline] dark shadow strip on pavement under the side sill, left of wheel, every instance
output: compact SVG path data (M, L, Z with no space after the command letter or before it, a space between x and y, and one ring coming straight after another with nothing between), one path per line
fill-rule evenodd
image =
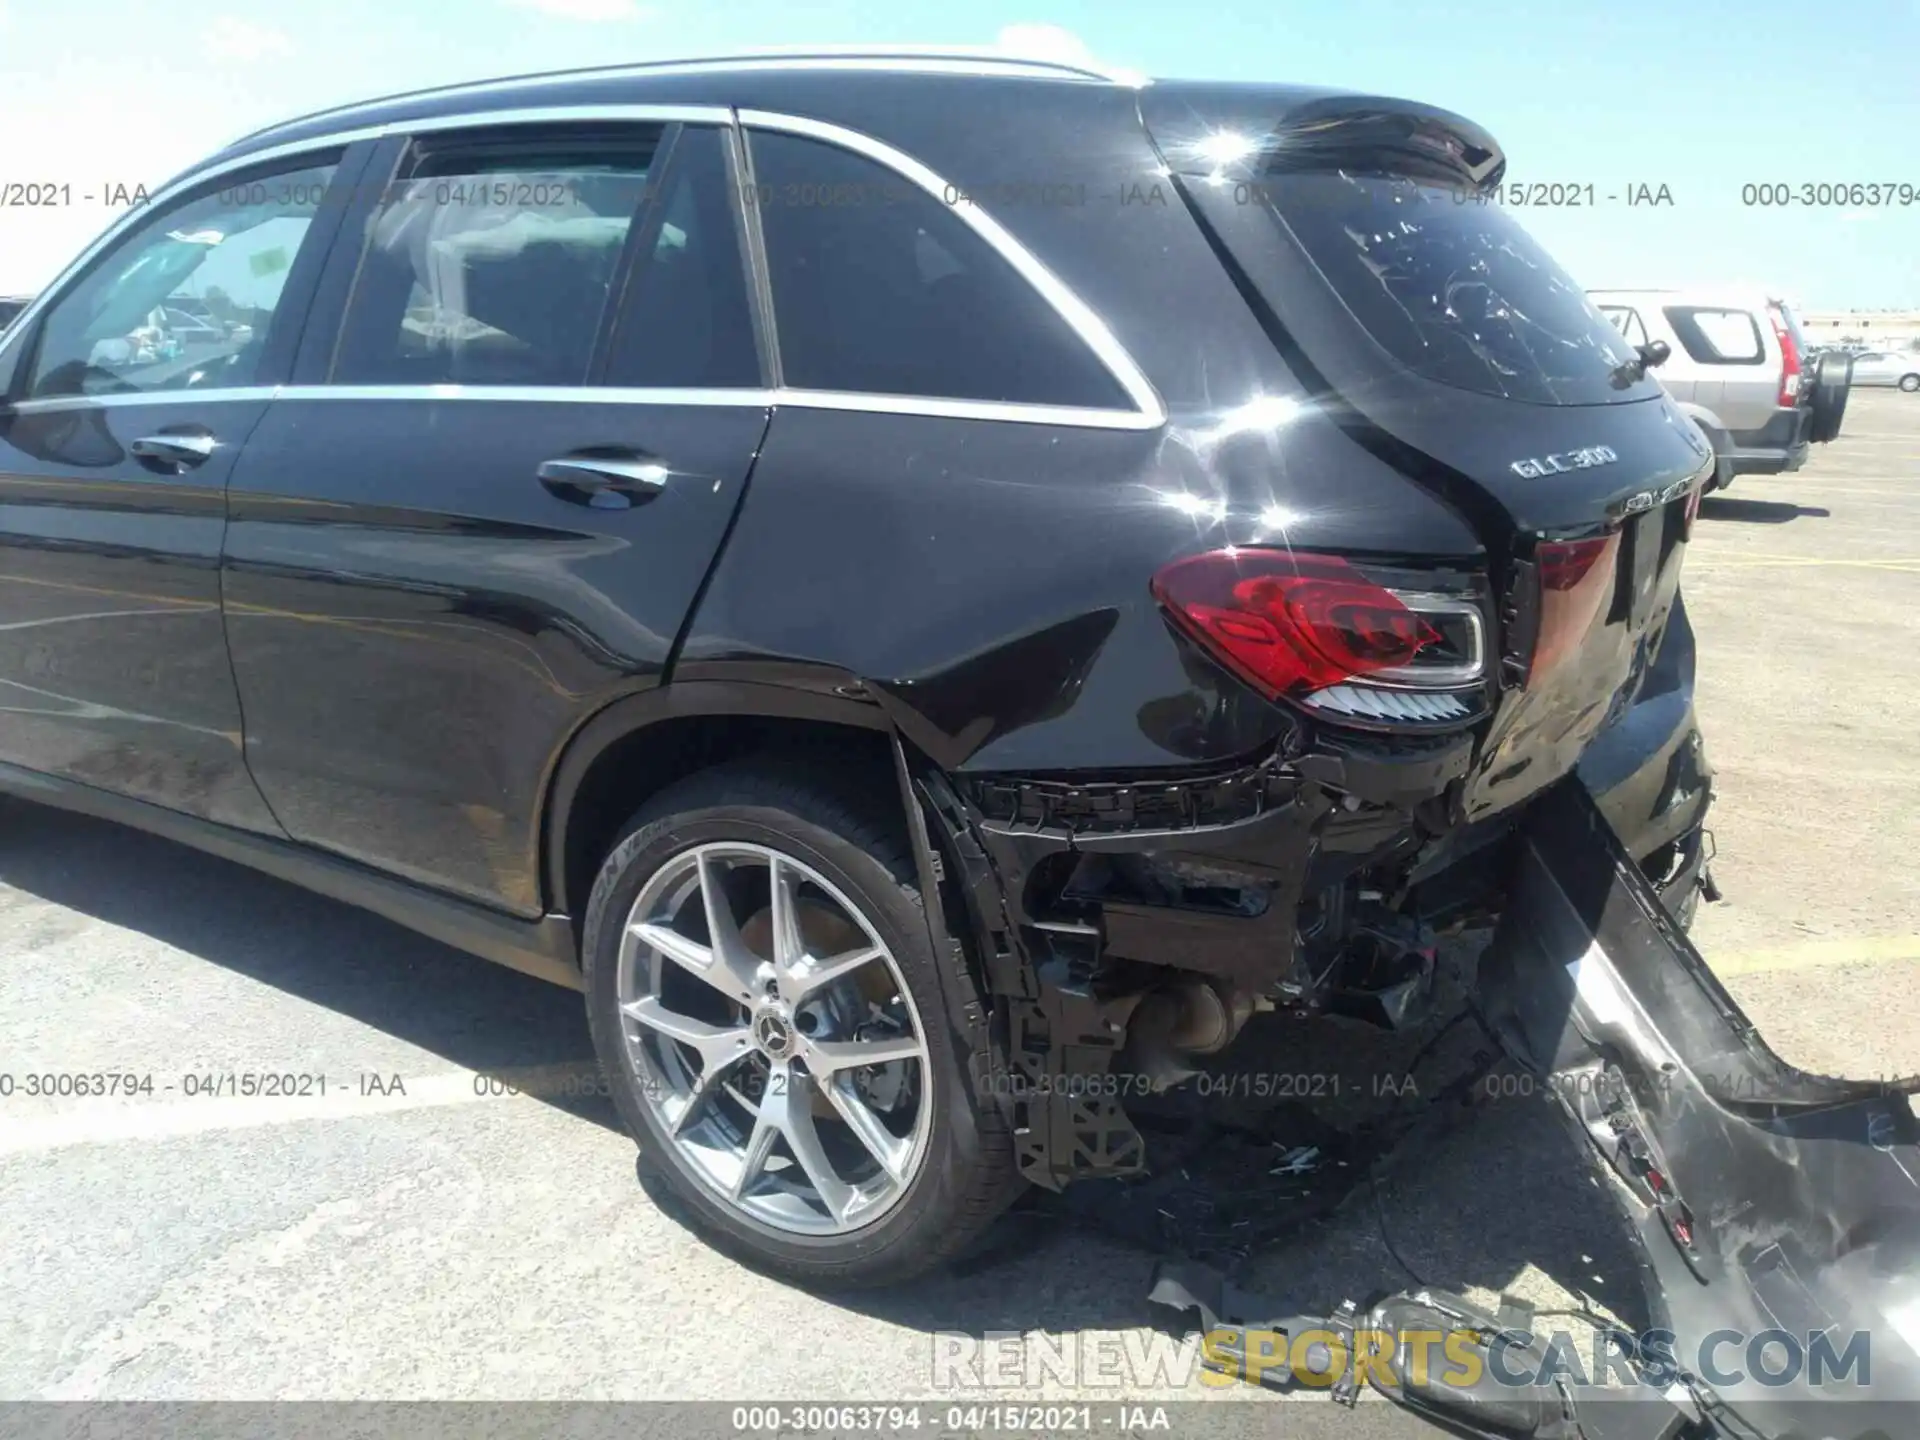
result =
M572 991L156 835L21 801L0 806L0 883L17 891L138 931L467 1069L593 1060ZM572 1089L541 1098L618 1129L611 1104Z

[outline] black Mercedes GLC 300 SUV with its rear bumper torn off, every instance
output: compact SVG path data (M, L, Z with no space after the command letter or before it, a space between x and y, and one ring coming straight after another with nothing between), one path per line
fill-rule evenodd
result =
M1569 776L1697 895L1713 457L1501 171L935 54L252 134L6 332L0 785L578 987L716 1240L922 1271L1409 1023Z

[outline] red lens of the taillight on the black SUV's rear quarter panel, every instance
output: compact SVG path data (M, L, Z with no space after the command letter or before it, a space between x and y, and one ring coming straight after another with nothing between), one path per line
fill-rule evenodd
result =
M1156 574L1154 597L1269 697L1392 670L1440 643L1427 620L1336 555L1215 549Z

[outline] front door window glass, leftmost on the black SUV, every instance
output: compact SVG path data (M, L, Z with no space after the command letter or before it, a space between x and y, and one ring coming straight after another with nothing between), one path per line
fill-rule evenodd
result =
M332 177L223 179L136 225L46 311L25 396L253 384Z

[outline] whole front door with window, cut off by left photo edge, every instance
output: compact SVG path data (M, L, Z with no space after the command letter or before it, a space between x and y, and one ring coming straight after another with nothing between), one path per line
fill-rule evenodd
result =
M278 833L221 630L227 484L286 378L365 146L161 196L0 369L0 760ZM167 315L204 307L179 340Z

